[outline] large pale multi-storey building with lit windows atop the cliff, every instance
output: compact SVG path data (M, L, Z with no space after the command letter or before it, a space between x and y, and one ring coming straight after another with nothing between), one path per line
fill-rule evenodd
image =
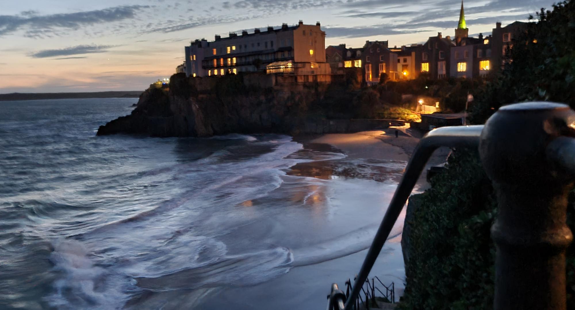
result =
M287 68L306 68L308 73L331 73L325 61L325 32L316 25L296 26L283 24L281 28L268 27L266 31L255 29L253 33L241 35L229 33L222 38L216 35L214 41L205 39L191 42L186 52L186 73L188 76L217 76L239 72L271 72ZM282 71L284 72L284 71ZM292 71L293 72L293 71ZM289 73L289 72L286 72Z

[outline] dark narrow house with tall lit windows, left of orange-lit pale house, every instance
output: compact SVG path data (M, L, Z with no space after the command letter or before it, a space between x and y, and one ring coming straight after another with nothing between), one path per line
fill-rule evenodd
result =
M390 80L399 79L397 54L390 51L388 41L365 41L361 63L363 81L368 85L377 84L382 73L386 73Z

